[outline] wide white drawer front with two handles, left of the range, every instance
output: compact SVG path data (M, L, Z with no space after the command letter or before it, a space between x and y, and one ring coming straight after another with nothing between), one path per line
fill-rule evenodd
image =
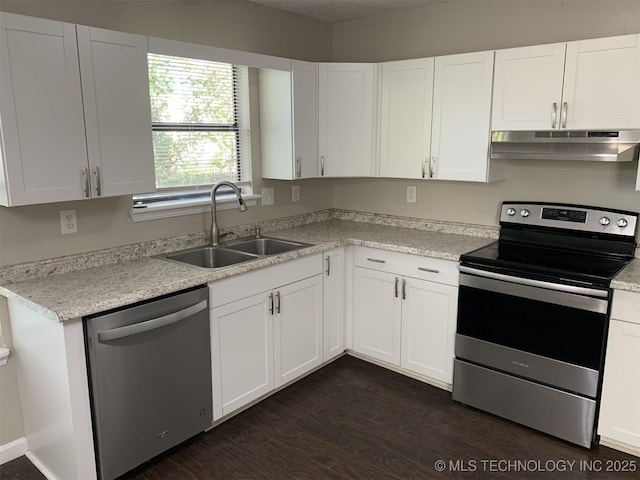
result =
M458 262L368 247L357 247L354 255L354 264L358 267L458 285Z

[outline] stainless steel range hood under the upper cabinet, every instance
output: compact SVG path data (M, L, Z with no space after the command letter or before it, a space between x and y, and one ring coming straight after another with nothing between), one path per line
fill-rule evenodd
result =
M492 159L630 162L639 151L640 130L491 132Z

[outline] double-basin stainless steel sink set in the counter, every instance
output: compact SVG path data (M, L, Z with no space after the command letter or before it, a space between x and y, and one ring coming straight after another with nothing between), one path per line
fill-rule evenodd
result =
M250 238L229 241L217 247L204 246L190 248L162 257L178 263L186 263L201 268L223 268L238 263L256 260L260 257L308 247L309 244L290 242L277 238Z

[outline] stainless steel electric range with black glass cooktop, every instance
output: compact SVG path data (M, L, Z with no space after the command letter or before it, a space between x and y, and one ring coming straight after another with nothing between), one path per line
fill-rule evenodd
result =
M590 447L611 279L638 213L504 202L498 241L461 257L453 399Z

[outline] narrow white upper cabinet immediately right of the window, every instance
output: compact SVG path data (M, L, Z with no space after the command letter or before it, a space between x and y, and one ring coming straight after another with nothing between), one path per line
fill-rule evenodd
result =
M317 177L318 76L315 63L293 60L291 71L260 69L262 177Z

